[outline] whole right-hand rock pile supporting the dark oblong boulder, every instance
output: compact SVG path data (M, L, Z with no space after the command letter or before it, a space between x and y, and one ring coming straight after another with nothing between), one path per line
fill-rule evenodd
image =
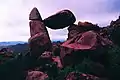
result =
M106 63L105 49L113 43L103 35L106 34L103 33L103 29L100 30L99 26L90 22L78 22L78 25L70 25L68 27L68 38L61 45L60 55L63 65L80 63L88 55L94 61L101 64Z

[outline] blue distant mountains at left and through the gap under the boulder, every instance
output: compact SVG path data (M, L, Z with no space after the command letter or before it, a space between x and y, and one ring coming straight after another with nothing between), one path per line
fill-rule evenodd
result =
M53 44L59 44L63 41L52 41ZM14 53L26 53L29 51L29 46L27 42L23 41L10 41L10 42L0 42L0 49L9 48Z

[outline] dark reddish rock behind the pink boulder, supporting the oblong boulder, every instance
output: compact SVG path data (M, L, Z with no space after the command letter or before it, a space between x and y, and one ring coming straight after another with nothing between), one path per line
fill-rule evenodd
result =
M74 36L78 35L79 33L86 32L86 31L100 31L99 26L92 24L90 22L78 22L78 25L72 24L68 27L68 39L73 38Z

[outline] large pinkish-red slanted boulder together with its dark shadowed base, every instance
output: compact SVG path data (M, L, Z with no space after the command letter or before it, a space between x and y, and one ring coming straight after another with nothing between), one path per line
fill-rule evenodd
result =
M92 57L94 61L96 60L100 63L104 63L105 61L101 59L104 53L106 53L107 46L109 45L112 45L109 39L103 38L94 31L79 33L61 45L60 56L62 58L62 63L65 66L80 63L84 57L90 55L94 56Z

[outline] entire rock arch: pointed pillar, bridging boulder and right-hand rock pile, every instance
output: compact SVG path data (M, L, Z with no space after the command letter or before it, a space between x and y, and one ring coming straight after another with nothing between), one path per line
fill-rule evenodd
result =
M104 65L107 64L106 52L112 41L105 37L105 30L98 25L90 22L78 22L74 24L76 18L69 10L62 10L44 20L42 20L37 8L30 13L30 33L29 39L30 52L38 56L38 70L46 72L48 76L58 74L57 69L63 69L66 66L81 64L84 58L89 58L96 64L97 76L103 76ZM46 27L51 29L61 29L68 27L68 38L61 44L52 44ZM38 65L37 64L37 65ZM101 71L98 70L100 68ZM56 70L52 73L51 70ZM33 70L34 71L34 70ZM98 72L99 71L99 72ZM49 74L50 73L50 74ZM52 75L51 75L52 73ZM79 73L70 73L66 80L98 80L98 77ZM84 79L83 79L84 77Z

